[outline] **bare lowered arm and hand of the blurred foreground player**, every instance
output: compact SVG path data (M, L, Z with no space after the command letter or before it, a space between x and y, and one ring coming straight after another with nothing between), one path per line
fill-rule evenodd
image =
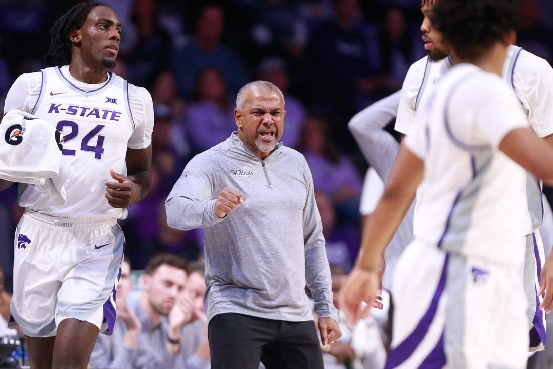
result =
M372 304L377 296L380 259L413 203L423 173L424 162L402 143L384 193L363 227L361 250L340 293L340 306L352 326L368 312L362 310L361 301Z

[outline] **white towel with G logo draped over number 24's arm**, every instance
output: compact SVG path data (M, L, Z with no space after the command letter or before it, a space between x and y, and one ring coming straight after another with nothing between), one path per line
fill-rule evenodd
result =
M8 111L0 123L0 178L35 184L65 204L65 184L74 170L62 157L58 138L48 122L21 110Z

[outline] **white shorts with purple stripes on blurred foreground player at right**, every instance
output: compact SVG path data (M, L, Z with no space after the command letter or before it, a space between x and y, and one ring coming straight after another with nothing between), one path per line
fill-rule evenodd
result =
M385 368L526 368L522 269L414 240L395 268Z

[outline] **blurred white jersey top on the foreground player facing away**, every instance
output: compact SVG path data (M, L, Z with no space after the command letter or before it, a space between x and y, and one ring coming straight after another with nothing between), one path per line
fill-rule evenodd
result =
M415 238L451 252L513 263L524 259L524 169L499 151L528 127L512 89L462 64L419 109L405 145L425 163Z

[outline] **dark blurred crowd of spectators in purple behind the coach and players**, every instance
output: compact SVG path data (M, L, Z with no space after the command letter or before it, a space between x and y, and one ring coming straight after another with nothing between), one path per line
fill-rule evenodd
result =
M400 89L410 64L425 56L420 1L101 2L123 25L113 71L147 88L154 102L152 188L121 221L133 269L162 251L202 258L202 230L169 228L164 201L192 156L236 130L238 88L264 79L284 93L281 141L305 155L330 263L347 273L359 248L359 198L368 167L347 123ZM49 29L75 3L0 1L0 106L19 74L50 66L43 59ZM523 3L518 44L551 64L553 1ZM16 196L17 186L0 192L0 267L8 291L13 233L22 214Z

